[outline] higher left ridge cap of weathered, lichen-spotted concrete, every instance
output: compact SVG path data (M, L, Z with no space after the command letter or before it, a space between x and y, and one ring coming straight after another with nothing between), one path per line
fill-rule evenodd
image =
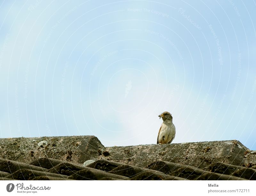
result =
M49 157L83 163L98 158L103 147L95 136L0 138L0 158L30 163Z

